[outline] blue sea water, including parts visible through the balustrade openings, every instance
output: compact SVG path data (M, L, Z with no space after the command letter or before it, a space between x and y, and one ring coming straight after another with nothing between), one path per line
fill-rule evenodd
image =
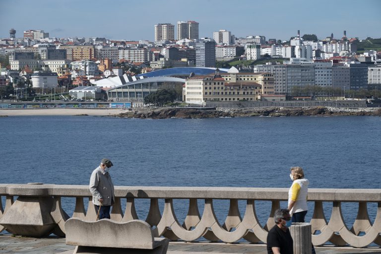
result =
M116 186L289 188L290 167L301 166L310 188L380 189L380 127L381 118L370 116L0 118L0 183L88 185L91 172L107 157L114 163ZM175 200L179 220L186 215L184 202ZM135 205L144 219L148 200ZM262 225L270 205L256 204ZM214 206L222 224L228 201L216 200ZM307 219L313 202L309 206ZM324 202L327 219L331 206ZM74 198L64 198L63 207L71 215ZM369 205L371 220L376 207ZM245 201L240 209L243 216ZM357 205L345 203L342 212L350 227Z

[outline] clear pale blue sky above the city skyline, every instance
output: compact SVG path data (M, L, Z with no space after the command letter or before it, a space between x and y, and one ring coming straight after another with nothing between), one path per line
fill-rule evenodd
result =
M39 29L50 37L154 40L154 25L195 20L199 37L220 29L237 38L289 40L300 30L325 39L381 38L381 0L0 0L0 38Z

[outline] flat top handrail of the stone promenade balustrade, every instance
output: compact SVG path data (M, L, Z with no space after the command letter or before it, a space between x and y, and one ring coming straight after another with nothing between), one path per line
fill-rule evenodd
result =
M83 185L0 184L0 195L91 196ZM116 186L116 197L287 200L287 188ZM381 189L309 189L310 201L381 202Z

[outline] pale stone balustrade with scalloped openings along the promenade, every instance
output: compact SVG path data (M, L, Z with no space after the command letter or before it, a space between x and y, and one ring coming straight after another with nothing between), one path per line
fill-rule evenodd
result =
M115 205L111 214L111 219L115 221L138 219L135 199L149 199L146 222L154 228L157 236L184 241L194 241L203 237L212 242L233 243L245 239L251 243L265 243L268 229L274 225L274 211L279 208L280 201L287 200L288 189L116 187L115 195ZM54 233L64 237L64 222L69 216L61 206L63 197L75 197L72 217L92 221L97 216L87 186L0 184L0 196L5 196L4 209L0 202L0 232L6 230L16 235L31 237ZM189 200L188 214L183 224L176 218L174 199ZM217 199L230 201L229 208L226 207L228 216L222 225L213 209L213 200ZM199 213L197 200L204 200L202 215ZM239 211L238 200L247 202L243 217ZM311 224L312 241L315 246L323 245L327 241L337 246L381 245L381 189L310 189L308 200L314 202ZM162 201L163 214L159 209L159 202ZM271 202L270 215L264 226L260 225L255 213L257 201ZM87 210L84 202L88 202ZM126 202L124 212L122 202ZM329 221L324 214L323 202L333 203ZM341 205L346 202L358 203L357 217L351 229L346 226L341 213ZM373 224L368 216L368 203L378 203ZM361 234L364 235L359 236Z

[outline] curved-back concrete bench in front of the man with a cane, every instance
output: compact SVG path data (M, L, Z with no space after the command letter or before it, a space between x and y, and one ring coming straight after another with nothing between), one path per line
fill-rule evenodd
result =
M74 254L166 254L169 240L154 238L151 226L142 220L116 222L109 219L65 222L66 244L76 245Z

